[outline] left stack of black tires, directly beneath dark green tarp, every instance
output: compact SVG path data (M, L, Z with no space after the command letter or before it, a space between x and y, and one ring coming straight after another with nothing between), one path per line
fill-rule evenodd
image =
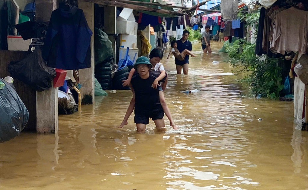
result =
M95 65L95 78L102 86L103 90L111 89L112 81L111 81L111 64L112 58L107 59L97 65Z

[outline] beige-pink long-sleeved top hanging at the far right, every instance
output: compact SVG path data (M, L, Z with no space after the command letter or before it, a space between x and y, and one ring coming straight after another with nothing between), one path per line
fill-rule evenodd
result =
M301 21L301 22L298 22ZM273 48L278 53L298 51L307 52L308 12L291 7L276 15L276 27L273 34Z

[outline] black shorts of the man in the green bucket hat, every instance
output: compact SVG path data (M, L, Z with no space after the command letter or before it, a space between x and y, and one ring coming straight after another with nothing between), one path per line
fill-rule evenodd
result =
M160 106L161 107L161 106ZM145 125L149 124L149 118L152 118L153 121L157 119L163 119L164 118L164 110L161 107L160 109L156 109L155 111L152 111L152 113L149 113L148 111L137 111L135 109L135 123L142 123Z

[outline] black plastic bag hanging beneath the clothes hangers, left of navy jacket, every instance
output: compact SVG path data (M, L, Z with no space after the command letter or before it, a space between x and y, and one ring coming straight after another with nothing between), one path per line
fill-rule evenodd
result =
M21 61L12 61L8 70L13 77L42 92L51 88L51 81L56 76L54 68L48 67L42 58L41 49L35 48Z

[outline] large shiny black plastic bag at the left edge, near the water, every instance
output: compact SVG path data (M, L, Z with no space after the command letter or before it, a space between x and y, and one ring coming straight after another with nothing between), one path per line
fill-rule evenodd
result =
M29 112L13 87L0 77L5 84L0 89L0 142L8 141L25 128Z

